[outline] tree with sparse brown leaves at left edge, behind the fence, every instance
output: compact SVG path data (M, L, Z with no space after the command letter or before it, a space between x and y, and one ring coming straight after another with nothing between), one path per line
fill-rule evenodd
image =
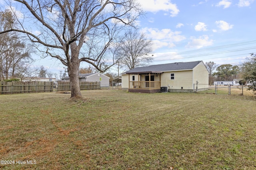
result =
M10 10L0 12L0 31L14 27L16 24L14 15ZM0 79L15 77L16 68L24 61L31 60L31 47L25 43L26 40L19 37L17 33L0 34Z

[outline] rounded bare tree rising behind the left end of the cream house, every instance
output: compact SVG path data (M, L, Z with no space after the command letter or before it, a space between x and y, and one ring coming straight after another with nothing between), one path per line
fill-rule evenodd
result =
M121 57L121 64L132 69L146 66L152 61L152 41L144 33L128 31L120 38L115 54Z

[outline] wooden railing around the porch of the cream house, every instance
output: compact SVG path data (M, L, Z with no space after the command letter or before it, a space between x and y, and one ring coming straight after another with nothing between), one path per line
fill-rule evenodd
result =
M160 89L161 82L158 81L130 81L129 89Z

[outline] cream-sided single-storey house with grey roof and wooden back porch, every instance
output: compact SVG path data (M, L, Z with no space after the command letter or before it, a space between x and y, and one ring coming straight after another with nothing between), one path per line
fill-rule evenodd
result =
M122 73L122 89L155 93L208 90L209 72L203 61L137 67Z

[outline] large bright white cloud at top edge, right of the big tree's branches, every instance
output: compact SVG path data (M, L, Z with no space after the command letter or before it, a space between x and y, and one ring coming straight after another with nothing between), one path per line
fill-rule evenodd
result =
M171 0L140 0L144 11L156 13L158 11L169 12L170 16L177 16L180 10L176 4L173 4Z

